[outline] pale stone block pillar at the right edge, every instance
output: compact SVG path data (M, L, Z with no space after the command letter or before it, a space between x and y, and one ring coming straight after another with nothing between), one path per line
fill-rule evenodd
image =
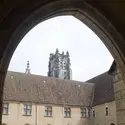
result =
M116 66L113 75L117 124L125 125L125 80L123 79L118 66Z

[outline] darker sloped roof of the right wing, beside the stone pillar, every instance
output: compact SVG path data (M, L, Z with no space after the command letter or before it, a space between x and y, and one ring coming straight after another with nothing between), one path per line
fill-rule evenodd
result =
M87 82L95 83L93 106L114 101L113 76L105 72Z

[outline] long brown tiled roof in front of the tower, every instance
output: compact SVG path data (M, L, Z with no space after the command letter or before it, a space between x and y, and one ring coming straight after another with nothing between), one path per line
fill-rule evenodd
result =
M93 86L90 83L8 71L3 100L89 106Z

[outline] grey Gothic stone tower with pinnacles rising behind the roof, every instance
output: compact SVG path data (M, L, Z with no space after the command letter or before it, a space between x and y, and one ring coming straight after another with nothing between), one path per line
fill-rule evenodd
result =
M72 79L70 66L71 64L68 51L65 55L64 52L60 54L58 49L56 49L55 54L50 54L48 76L61 79Z

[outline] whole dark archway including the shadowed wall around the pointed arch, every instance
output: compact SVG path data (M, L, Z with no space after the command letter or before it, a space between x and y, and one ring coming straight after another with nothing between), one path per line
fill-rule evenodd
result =
M73 15L90 27L107 46L124 78L125 19L122 11L125 4L111 3L111 1L100 2L99 0L96 2L92 0L14 0L11 3L6 0L5 5L6 8L3 5L0 12L2 29L0 30L2 41L0 43L1 102L6 71L22 37L39 22L59 15ZM123 103L122 100L121 98L121 103ZM2 105L0 105L0 114L2 114L1 107Z

